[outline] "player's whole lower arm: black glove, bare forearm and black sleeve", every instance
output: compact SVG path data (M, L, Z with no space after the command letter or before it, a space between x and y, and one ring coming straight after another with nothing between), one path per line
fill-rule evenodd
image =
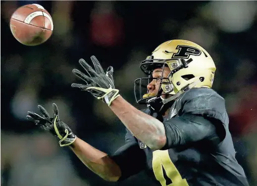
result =
M53 117L49 115L43 106L39 105L38 108L41 115L29 111L27 118L33 121L39 128L57 137L60 146L69 146L91 171L104 180L111 182L121 180L136 174L140 167L142 167L140 166L142 164L140 156L143 156L143 151L140 151L132 135L127 133L126 144L110 157L82 139L77 138L68 125L60 120L55 103L53 103ZM133 157L135 154L138 155L137 159Z

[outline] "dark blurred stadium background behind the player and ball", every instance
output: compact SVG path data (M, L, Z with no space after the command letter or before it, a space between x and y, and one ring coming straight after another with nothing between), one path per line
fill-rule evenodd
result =
M38 3L53 19L43 45L23 46L9 19L19 6ZM62 121L94 147L113 153L125 127L107 105L72 89L78 60L96 55L114 67L115 85L138 107L139 64L159 44L185 39L204 47L217 70L213 89L226 100L236 158L257 186L257 1L2 1L1 186L155 186L145 173L108 183L68 149L26 120L27 111L58 105ZM147 184L146 184L147 183Z

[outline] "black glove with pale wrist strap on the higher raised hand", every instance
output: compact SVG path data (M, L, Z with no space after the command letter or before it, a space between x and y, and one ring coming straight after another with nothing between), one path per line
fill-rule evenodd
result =
M86 85L73 83L71 87L77 87L82 91L88 91L110 106L111 102L119 96L119 90L115 89L114 86L113 67L109 66L106 73L104 73L100 62L94 55L91 56L91 60L95 70L84 59L79 60L79 64L85 69L89 76L77 69L72 70L73 74L86 82Z

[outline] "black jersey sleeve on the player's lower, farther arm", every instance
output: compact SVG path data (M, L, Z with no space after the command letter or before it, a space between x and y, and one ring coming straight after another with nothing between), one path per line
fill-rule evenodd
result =
M127 130L127 129L126 129ZM122 181L143 170L146 162L146 154L140 149L136 138L127 130L125 144L110 156L120 167Z

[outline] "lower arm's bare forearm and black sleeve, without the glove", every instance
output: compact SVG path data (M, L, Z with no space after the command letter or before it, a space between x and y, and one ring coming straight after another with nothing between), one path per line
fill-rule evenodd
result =
M77 138L70 148L78 158L94 173L106 181L122 181L137 174L144 167L145 154L130 132L126 143L114 154L108 155L87 142Z

